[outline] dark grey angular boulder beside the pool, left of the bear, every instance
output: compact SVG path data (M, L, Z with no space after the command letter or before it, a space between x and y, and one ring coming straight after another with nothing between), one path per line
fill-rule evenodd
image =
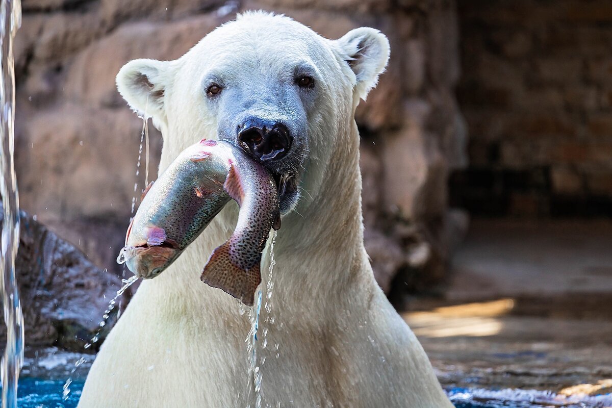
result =
M1 202L0 202L1 204ZM95 333L106 336L100 327L102 313L121 287L121 280L95 267L77 248L45 226L20 213L20 247L15 259L21 311L27 347L56 346L84 351ZM0 224L2 214L0 214ZM117 300L108 320L127 299ZM122 305L120 305L122 303ZM0 338L6 338L4 317L0 317ZM4 349L6 341L0 344ZM92 344L89 352L99 344Z

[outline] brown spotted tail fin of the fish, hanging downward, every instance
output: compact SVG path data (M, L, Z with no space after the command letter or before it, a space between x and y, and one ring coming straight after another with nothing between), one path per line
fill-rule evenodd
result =
M212 252L200 280L211 287L222 289L247 306L253 306L255 291L261 283L259 262L248 270L234 265L230 259L228 241Z

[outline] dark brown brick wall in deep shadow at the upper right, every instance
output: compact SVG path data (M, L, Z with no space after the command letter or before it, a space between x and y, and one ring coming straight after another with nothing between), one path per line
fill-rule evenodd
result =
M460 2L470 129L453 201L496 216L612 216L612 4Z

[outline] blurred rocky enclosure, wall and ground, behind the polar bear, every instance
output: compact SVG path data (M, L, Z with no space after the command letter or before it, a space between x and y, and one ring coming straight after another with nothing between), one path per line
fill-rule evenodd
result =
M115 258L144 187L143 121L116 73L179 57L249 9L331 39L359 26L389 37L387 72L357 111L365 243L443 382L491 379L492 366L533 387L612 377L609 0L23 0L28 346L82 350L131 275Z

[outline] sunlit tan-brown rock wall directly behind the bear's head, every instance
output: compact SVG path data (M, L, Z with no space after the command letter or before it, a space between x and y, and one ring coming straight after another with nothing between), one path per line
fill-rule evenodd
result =
M286 13L329 38L362 25L389 36L387 73L357 114L367 248L387 291L395 276L412 286L439 280L450 237L465 227L447 207L447 175L465 164L452 0L23 0L16 153L23 208L119 273L114 259L144 184L144 167L135 174L143 124L114 76L130 59L181 56L248 9ZM151 127L150 178L160 149Z

